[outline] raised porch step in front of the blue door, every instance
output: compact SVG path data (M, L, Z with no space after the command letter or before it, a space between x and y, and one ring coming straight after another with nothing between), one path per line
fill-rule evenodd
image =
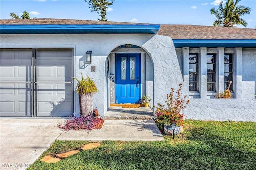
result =
M149 107L110 107L104 120L153 120L153 111Z

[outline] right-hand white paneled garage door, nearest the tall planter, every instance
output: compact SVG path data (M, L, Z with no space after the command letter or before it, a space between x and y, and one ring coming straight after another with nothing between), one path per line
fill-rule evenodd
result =
M37 55L37 115L72 115L73 84L64 82L72 81L73 51L70 49L40 49L37 51ZM43 107L47 109L43 110Z

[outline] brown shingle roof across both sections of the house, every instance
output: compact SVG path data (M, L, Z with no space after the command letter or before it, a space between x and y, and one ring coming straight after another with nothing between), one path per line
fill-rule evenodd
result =
M130 22L69 20L69 19L22 19L0 20L0 25L150 25ZM174 40L256 40L256 30L250 28L230 28L193 25L161 25L159 35L170 36Z

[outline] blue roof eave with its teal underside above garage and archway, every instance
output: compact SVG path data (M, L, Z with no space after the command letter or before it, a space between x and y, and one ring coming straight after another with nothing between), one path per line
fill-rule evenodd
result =
M156 34L160 25L0 25L0 34Z

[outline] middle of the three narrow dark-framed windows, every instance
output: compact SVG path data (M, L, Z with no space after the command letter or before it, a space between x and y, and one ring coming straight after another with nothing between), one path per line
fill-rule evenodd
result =
M207 54L207 91L216 91L216 55Z

